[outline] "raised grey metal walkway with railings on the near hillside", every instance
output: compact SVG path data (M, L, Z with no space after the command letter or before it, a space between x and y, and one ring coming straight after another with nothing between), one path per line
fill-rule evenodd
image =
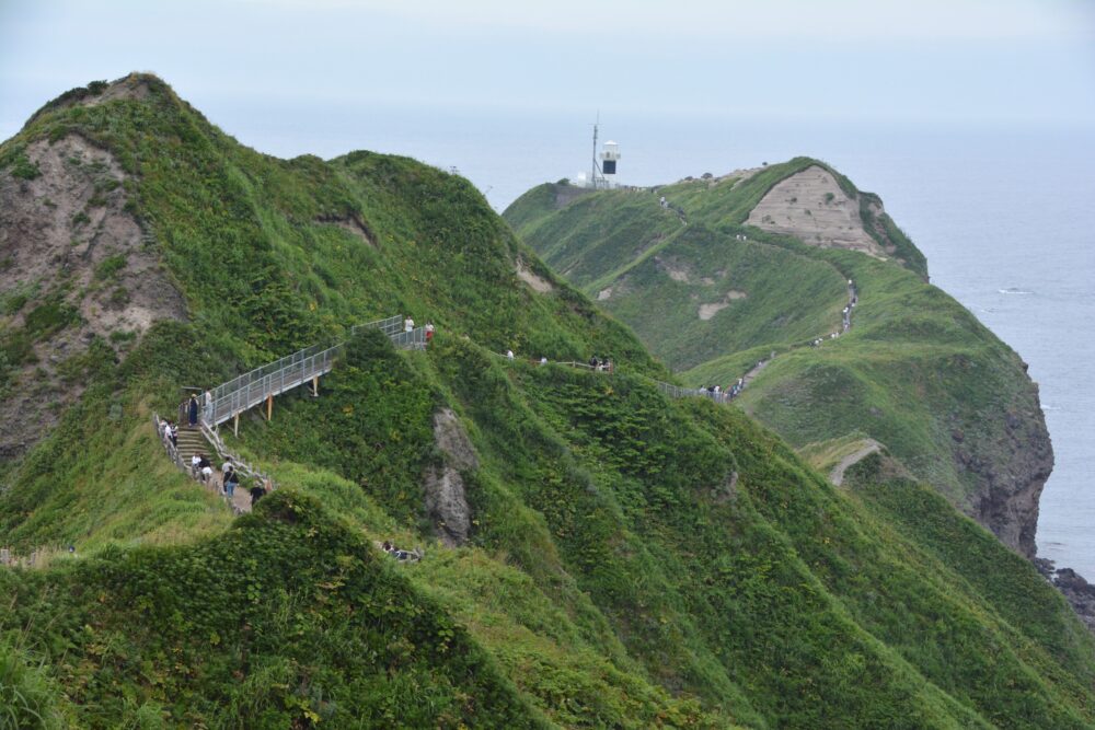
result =
M350 335L356 335L364 329L380 329L399 349L426 349L426 328L417 327L404 331L403 322L403 315L396 314L384 320L355 325L350 328ZM303 385L320 375L325 375L331 372L336 357L343 351L345 345L345 343L339 343L326 348L319 345L306 347L280 360L268 362L218 385L209 392L208 396L203 396L203 424L214 428L267 398Z

